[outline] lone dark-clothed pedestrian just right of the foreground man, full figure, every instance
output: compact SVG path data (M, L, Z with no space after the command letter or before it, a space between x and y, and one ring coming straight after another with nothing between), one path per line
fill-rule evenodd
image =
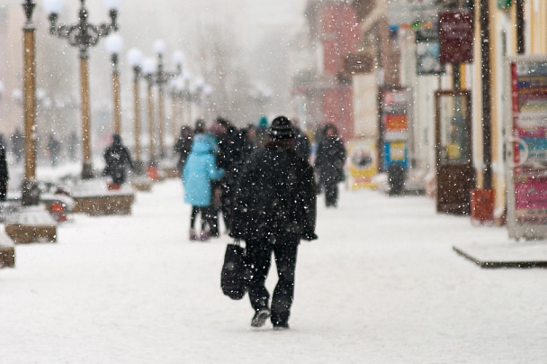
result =
M344 180L345 156L344 142L338 137L336 126L331 123L325 125L318 144L315 168L319 184L325 190L327 207L336 207L338 204L338 183Z

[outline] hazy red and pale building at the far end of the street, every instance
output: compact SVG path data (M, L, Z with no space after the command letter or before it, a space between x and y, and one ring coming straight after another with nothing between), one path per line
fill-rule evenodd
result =
M336 0L309 0L307 49L313 66L294 70L292 94L297 114L306 126L334 123L345 140L354 138L353 88L343 69L344 57L354 53L360 36L354 6ZM301 40L300 40L301 41ZM305 57L300 50L300 57Z

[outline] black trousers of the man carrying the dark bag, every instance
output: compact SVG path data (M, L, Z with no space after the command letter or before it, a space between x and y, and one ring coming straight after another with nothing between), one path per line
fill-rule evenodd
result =
M294 271L300 238L297 235L246 241L247 266L252 278L248 284L251 306L256 310L268 307L270 294L265 287L265 280L272 264L272 252L277 267L277 285L272 297L272 323L286 324L291 315L294 296Z

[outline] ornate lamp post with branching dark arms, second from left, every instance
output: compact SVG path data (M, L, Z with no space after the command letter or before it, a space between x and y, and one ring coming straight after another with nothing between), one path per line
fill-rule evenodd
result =
M82 144L84 150L84 164L82 168L82 179L94 177L93 163L91 156L91 121L89 105L89 73L88 73L88 50L94 47L101 38L118 30L118 7L121 0L103 0L103 3L110 9L111 23L93 25L88 23L85 0L80 0L78 23L74 25L58 25L57 19L62 9L63 0L44 0L44 8L49 13L49 33L58 38L67 39L68 44L77 47L80 58L81 97L82 97Z

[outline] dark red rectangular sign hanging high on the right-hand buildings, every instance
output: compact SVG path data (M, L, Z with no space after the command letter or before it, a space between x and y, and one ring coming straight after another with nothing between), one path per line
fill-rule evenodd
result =
M473 14L471 10L448 10L439 14L441 63L473 61Z

